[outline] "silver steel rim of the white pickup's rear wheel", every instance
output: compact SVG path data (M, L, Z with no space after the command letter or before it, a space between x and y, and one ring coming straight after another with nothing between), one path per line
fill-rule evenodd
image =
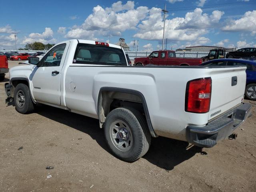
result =
M132 147L132 131L122 120L116 120L110 125L110 138L114 146L122 152L130 150Z

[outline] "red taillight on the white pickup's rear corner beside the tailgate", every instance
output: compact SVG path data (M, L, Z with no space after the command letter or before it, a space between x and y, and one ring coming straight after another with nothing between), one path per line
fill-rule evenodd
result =
M210 110L212 79L210 77L191 80L186 87L185 111L206 113Z

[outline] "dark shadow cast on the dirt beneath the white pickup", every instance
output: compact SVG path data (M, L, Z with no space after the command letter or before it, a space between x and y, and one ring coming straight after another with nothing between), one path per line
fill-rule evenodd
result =
M90 135L104 150L110 152L98 120L46 105L40 105L36 113ZM143 158L169 172L197 153L207 154L202 148L191 146L188 142L158 137L152 139L150 150Z

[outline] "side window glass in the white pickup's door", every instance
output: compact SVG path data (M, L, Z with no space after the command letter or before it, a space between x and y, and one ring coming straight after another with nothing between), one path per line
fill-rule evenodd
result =
M52 48L40 61L40 66L60 66L60 61L63 52L66 48L66 43L60 44Z

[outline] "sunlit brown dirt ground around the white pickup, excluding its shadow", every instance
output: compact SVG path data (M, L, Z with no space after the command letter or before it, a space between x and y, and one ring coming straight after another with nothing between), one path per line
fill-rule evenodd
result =
M236 140L208 149L153 138L143 158L127 163L110 154L98 120L43 105L23 115L5 98L0 82L1 192L256 191L256 102Z

